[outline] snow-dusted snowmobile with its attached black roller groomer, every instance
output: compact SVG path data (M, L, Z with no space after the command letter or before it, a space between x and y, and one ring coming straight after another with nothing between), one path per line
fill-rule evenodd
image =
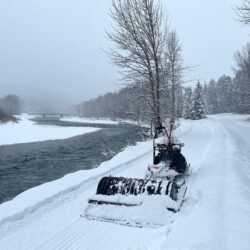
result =
M96 194L89 198L83 217L126 226L155 227L165 225L173 212L179 211L186 193L184 174L171 169L171 132L163 126L157 133L166 133L169 143L153 140L153 164L148 166L145 179L103 177ZM156 155L156 151L158 154Z

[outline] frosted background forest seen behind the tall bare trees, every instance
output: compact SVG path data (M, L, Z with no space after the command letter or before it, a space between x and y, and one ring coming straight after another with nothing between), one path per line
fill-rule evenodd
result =
M250 44L237 51L234 58L233 77L223 75L218 80L210 80L209 83L197 83L194 89L178 86L174 96L177 118L195 119L190 113L199 113L199 108L202 109L200 118L205 114L250 113ZM162 110L166 112L163 117L170 117L171 88L166 88L161 94ZM201 107L194 107L194 102L196 106L197 102L200 102ZM150 121L148 108L147 101L140 98L135 86L124 87L118 92L107 93L75 107L78 115L86 117Z

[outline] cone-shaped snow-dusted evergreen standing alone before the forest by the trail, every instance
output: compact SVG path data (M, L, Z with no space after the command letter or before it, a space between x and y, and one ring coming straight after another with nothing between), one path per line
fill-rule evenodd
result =
M192 105L188 119L200 120L206 118L206 108L202 98L202 86L200 82L197 83L193 93Z

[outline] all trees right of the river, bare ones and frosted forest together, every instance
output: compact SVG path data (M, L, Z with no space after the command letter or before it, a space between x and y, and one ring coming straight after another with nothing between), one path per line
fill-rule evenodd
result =
M237 8L239 21L250 21L250 1ZM202 119L206 114L250 113L250 44L235 53L234 76L208 84L183 86L185 68L176 31L157 0L113 0L114 28L108 51L126 87L75 107L78 115L159 123L161 119Z

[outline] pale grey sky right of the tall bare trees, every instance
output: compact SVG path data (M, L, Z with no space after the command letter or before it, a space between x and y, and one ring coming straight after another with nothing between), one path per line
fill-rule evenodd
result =
M249 27L236 19L242 0L166 0L171 26L180 37L184 61L197 66L187 80L232 76L234 53L249 42Z

